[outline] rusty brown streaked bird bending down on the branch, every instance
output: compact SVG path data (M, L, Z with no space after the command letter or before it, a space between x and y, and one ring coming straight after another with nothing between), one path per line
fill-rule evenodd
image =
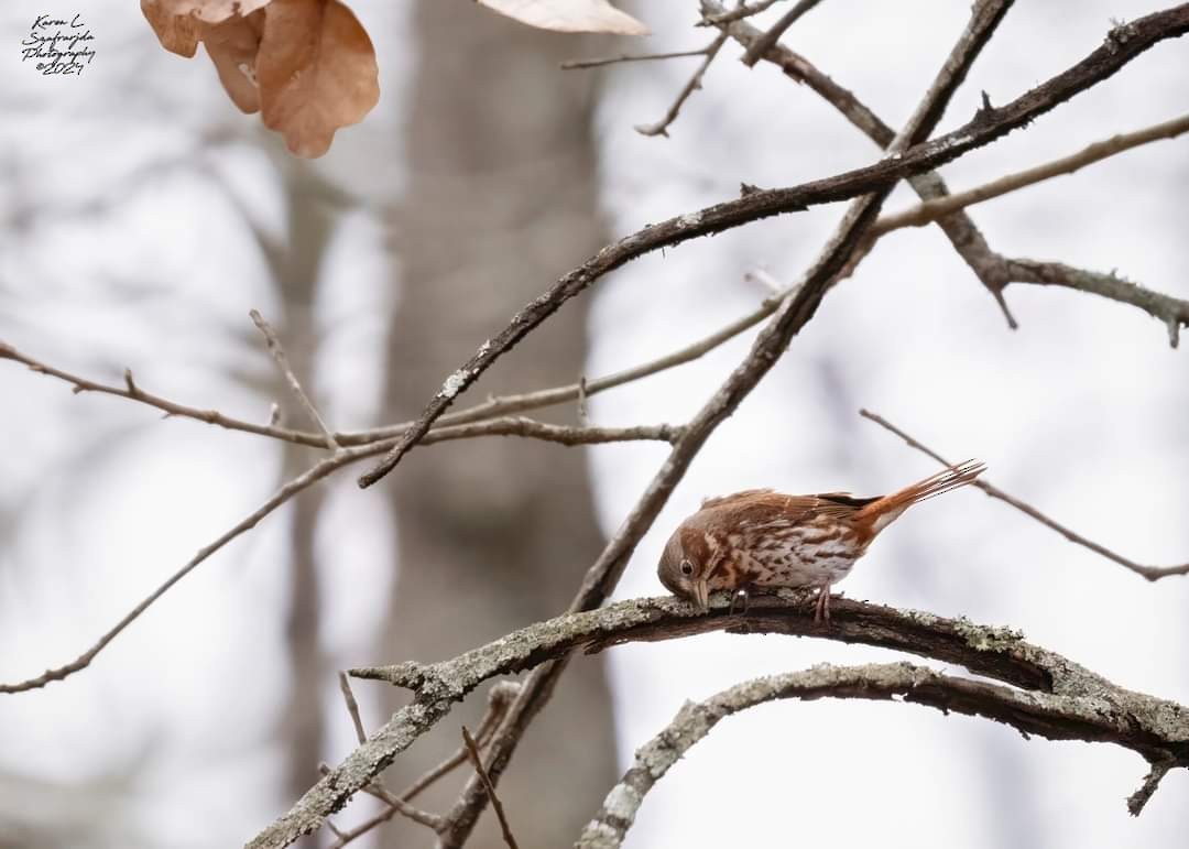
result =
M707 498L673 532L658 576L671 592L703 610L715 590L817 587L814 618L829 622L830 587L883 528L913 504L965 486L984 468L968 460L874 498L773 490Z

